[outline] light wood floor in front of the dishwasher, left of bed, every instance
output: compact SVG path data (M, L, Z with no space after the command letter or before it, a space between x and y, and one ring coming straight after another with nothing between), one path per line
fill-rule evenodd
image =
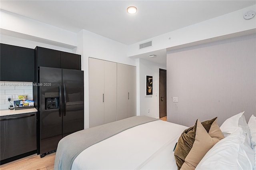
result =
M54 170L55 154L52 153L40 158L33 154L0 166L0 170Z

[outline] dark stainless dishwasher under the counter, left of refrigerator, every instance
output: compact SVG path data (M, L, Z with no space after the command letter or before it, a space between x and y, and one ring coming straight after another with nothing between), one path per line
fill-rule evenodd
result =
M0 150L1 164L36 150L36 112L0 117Z

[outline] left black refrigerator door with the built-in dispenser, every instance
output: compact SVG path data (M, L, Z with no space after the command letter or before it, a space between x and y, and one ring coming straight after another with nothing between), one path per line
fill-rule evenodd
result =
M40 154L56 150L62 138L61 102L57 109L46 109L49 97L60 98L62 90L62 69L40 67L39 69L40 94ZM52 96L51 96L52 95ZM59 99L61 101L61 99Z

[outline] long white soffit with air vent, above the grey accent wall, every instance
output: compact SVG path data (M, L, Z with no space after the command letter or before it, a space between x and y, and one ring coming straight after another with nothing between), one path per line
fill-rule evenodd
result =
M213 41L216 37L226 38L226 35L229 34L231 34L231 36L243 34L241 32L256 29L256 17L250 20L245 20L243 18L244 14L250 10L255 11L256 6L250 6L248 8L144 40L143 42L134 43L128 46L128 56L139 55L169 47L176 47L187 43L200 42L203 40ZM171 39L169 40L169 38ZM139 44L151 40L152 47L139 49Z

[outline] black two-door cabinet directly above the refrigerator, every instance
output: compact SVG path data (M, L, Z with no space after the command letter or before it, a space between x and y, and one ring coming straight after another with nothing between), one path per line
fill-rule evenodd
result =
M36 65L38 67L54 67L81 70L81 55L36 47Z

